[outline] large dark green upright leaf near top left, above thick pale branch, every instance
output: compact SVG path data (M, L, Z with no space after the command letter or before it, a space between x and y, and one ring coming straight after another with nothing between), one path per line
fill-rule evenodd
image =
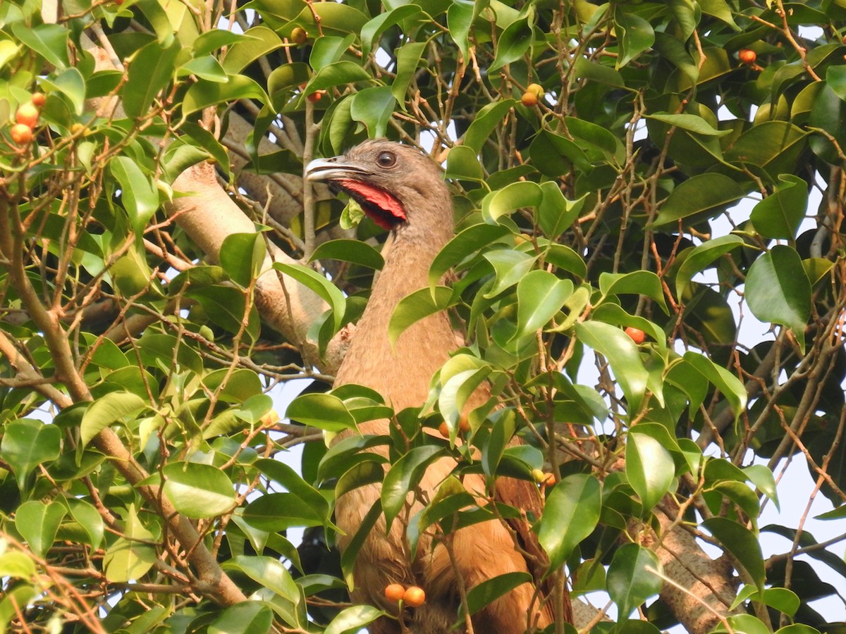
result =
M140 118L150 112L153 101L176 74L176 57L181 50L179 40L174 38L169 46L151 41L135 53L121 90L127 117Z

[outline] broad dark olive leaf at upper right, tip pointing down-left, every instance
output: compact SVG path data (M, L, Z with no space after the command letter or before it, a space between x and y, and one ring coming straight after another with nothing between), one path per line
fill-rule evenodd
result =
M652 226L659 227L684 219L689 219L685 223L689 225L699 221L701 216L717 216L745 194L744 189L728 176L717 173L699 174L673 189Z

